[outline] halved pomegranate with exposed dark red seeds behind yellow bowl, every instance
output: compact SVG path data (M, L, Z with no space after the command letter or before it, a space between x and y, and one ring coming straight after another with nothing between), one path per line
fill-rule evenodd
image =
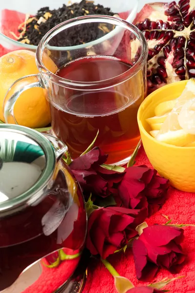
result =
M134 24L148 42L148 93L195 78L195 0L145 4Z

